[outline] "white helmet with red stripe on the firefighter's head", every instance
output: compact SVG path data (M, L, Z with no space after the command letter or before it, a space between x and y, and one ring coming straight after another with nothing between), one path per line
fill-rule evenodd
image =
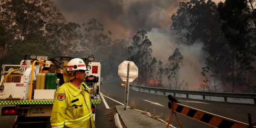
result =
M68 62L66 71L86 70L84 61L80 58L74 58Z

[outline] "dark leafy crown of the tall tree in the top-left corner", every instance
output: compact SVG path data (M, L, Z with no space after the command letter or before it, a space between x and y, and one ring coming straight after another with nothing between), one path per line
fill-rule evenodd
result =
M50 0L1 0L0 8L0 22L10 37L6 49L26 41L29 33L44 30L46 24L64 19Z

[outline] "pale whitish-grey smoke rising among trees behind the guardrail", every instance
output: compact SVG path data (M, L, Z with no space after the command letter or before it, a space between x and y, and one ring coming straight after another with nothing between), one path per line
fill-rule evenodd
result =
M199 84L203 81L201 75L202 67L205 66L205 51L203 43L195 43L193 45L176 44L175 39L170 34L169 29L153 28L147 33L152 42L152 58L156 57L161 60L163 65L168 63L168 58L173 54L176 48L183 55L183 62L180 65L179 82L184 80L188 83L188 88L192 90L199 89ZM167 84L167 76L164 77L164 84Z

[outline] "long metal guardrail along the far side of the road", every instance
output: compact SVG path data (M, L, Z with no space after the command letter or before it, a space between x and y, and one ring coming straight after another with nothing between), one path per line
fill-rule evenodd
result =
M211 101L219 101L219 102L232 102L232 103L256 105L256 93L186 91L186 90L136 86L132 84L130 84L130 88L135 91L159 94L164 96L172 94L173 96L176 96L176 97L183 97L183 98L189 98L189 99L211 100Z

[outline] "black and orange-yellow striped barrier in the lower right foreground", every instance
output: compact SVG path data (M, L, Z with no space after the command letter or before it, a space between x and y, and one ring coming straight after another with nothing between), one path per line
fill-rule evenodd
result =
M167 97L170 100L168 102L168 107L172 110L172 115L173 113L175 114L179 123L180 121L176 113L180 113L181 115L192 118L214 128L256 128L256 126L250 125L249 127L249 125L246 123L238 122L236 120L232 120L226 117L222 117L209 112L205 112L203 110L195 109L193 107L180 104L178 100L172 95L168 95ZM172 119L172 115L170 116L169 123L170 120ZM167 128L168 126L169 124L167 125ZM182 128L181 123L180 126Z

